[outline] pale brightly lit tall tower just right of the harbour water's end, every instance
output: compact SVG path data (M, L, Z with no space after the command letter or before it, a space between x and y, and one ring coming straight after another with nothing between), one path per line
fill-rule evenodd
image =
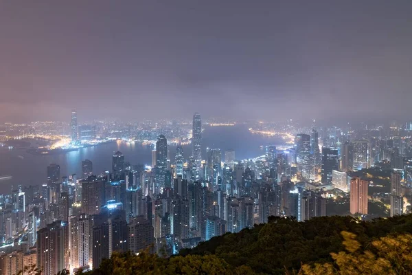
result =
M299 133L295 137L297 170L304 179L310 179L312 165L310 163L310 135Z

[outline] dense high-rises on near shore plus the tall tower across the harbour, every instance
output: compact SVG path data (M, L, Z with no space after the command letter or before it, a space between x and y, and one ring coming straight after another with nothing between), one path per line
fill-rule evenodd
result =
M76 141L75 111L71 126ZM264 155L238 160L232 149L204 148L202 130L201 115L195 113L192 154L181 145L170 152L161 134L151 167L131 165L117 151L111 170L98 174L85 159L82 175L66 176L58 164L50 164L47 184L18 186L0 196L0 274L24 272L32 264L45 275L90 270L115 251L172 255L271 216L322 217L331 188L350 193L347 212L369 214L370 182L352 173L374 165L371 159L384 159L376 153L381 143L342 139L336 131L319 137L312 129L297 134L295 146L286 151L266 146ZM402 142L391 138L392 216L402 214L402 183L409 182L412 170Z

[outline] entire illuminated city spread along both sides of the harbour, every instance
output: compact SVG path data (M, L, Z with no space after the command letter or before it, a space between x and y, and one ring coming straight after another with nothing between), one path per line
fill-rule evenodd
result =
M196 112L192 118L189 126L174 122L126 129L115 124L84 127L72 111L70 138L60 137L67 146L40 146L26 153L41 157L115 144L117 151L108 156L111 169L101 170L93 164L98 159L82 155L78 163L82 173L70 174L60 167L67 165L60 158L47 165L47 177L36 179L37 183L47 180L45 184L19 184L1 195L1 274L12 275L26 263L36 263L49 275L93 271L114 252L138 255L141 249L178 255L183 248L196 248L214 236L253 230L255 224L277 218L295 217L301 222L348 215L368 221L411 213L412 129L407 125L332 126L318 132L313 123L302 133L293 124L284 125L281 132L279 125L264 122L249 124L251 128L214 123L203 129L201 114ZM53 125L46 124L45 129L58 136ZM37 130L43 131L43 126ZM233 135L223 149L207 146L205 133L216 128L238 129L240 135ZM277 135L283 142L261 145L261 155L253 158L236 159L236 150L250 144L235 150L233 142L246 133L255 138ZM96 142L96 135L106 142ZM141 137L155 140L148 143ZM19 140L32 142L36 135L2 135L0 144ZM129 162L133 150L124 154L119 151L121 144L146 146L152 166L149 159ZM1 152L19 149L9 146ZM10 246L15 239L19 245Z

